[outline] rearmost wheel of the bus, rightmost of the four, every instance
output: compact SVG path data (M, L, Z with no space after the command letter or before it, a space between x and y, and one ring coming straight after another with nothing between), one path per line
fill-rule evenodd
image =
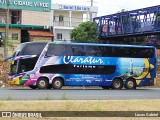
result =
M125 82L126 89L136 89L136 82L134 79L127 79Z

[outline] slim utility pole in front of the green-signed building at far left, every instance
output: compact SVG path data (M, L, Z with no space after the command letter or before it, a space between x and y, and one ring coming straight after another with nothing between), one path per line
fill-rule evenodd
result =
M7 14L6 14L6 34L5 34L5 41L4 43L4 57L8 57L8 36L9 36L9 5L10 5L10 0L6 0L6 5L7 5Z

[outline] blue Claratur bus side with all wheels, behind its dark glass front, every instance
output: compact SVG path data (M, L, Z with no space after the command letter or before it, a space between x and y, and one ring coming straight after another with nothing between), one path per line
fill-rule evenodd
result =
M152 86L156 83L156 50L152 46L51 42L21 80L38 89Z

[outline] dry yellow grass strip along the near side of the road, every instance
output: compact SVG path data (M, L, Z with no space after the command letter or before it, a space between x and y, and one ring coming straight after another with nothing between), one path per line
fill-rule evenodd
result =
M1 105L1 101L0 101ZM159 111L160 100L39 100L2 101L0 111ZM105 118L14 118L13 120L117 120ZM154 120L154 117L119 117L119 120ZM159 118L155 118L158 120ZM3 120L11 120L3 119Z

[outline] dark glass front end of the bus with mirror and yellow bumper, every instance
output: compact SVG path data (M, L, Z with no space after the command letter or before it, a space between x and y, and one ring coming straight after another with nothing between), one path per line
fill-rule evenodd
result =
M8 76L9 84L24 85L21 80L26 72L33 70L42 50L47 42L26 42L21 43L15 50L12 57L4 61L11 60L11 67ZM30 86L31 88L33 86Z

